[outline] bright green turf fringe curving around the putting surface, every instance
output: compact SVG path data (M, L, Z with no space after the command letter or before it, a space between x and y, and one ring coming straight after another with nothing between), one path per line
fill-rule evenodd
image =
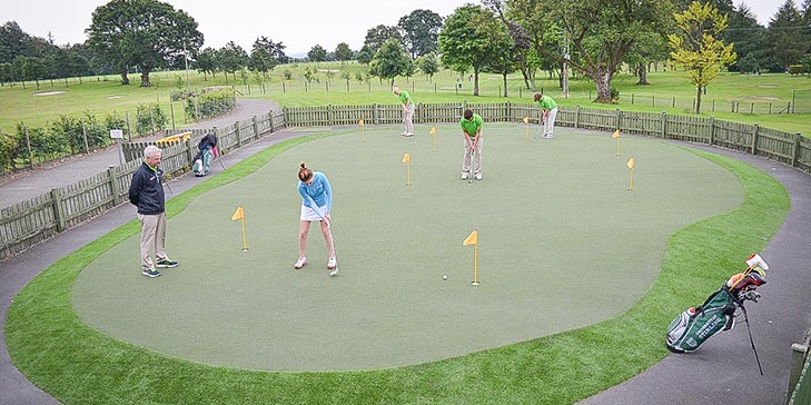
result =
M270 147L177 196L167 213L176 215L202 192L295 145L332 135ZM101 253L137 234L133 220L50 266L20 292L6 323L9 353L36 385L65 403L572 403L660 360L667 353L664 328L674 314L739 271L743 258L765 246L789 210L785 190L765 172L693 151L738 176L743 204L675 233L651 290L627 313L597 325L384 371L271 373L206 366L112 339L83 325L72 310L73 279ZM160 303L154 305L161 310Z

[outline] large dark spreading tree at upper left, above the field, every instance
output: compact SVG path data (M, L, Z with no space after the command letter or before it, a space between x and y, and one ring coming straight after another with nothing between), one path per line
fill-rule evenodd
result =
M150 86L154 69L202 46L197 21L157 0L112 0L93 11L86 32L91 48L119 69L122 85L129 83L127 68L137 66L141 87Z

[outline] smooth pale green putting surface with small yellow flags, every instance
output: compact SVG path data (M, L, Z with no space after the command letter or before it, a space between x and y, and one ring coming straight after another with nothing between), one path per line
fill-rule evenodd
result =
M116 338L196 362L250 369L337 371L419 364L591 325L650 287L675 230L735 208L736 177L669 144L558 129L485 127L483 181L458 179L462 138L367 128L296 146L171 218L180 267L147 279L138 237L72 287L77 314ZM532 136L532 134L530 134ZM411 154L406 186L403 155ZM636 160L627 191L630 157ZM327 276L314 227L294 270L300 160L335 192L340 275ZM249 251L230 217L245 207ZM471 286L479 233L482 285ZM443 280L442 276L448 279Z

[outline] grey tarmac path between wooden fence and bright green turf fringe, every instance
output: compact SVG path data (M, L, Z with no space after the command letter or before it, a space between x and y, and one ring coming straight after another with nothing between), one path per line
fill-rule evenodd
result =
M264 106L265 109L267 106ZM246 117L264 112L250 112ZM229 116L218 119L224 125L236 121ZM306 132L280 131L222 157L230 166L268 146ZM801 342L811 325L811 176L750 155L704 148L716 154L745 160L774 176L792 198L789 216L763 251L771 266L769 283L761 287L763 299L750 304L752 334L764 376L758 374L745 325L708 342L691 355L670 355L641 375L600 393L583 404L783 404L788 388L790 346ZM70 171L59 170L58 172ZM221 169L219 165L212 171ZM92 172L91 172L92 174ZM53 174L51 174L53 176ZM60 175L61 176L61 175ZM56 176L53 176L56 177ZM180 194L199 182L194 176L172 180ZM0 186L6 194L6 186ZM47 189L44 190L47 191ZM171 196L169 196L171 198ZM42 269L81 248L109 230L131 220L132 207L121 205L99 218L70 229L22 254L0 261L0 329L14 295ZM752 218L755 229L758 219ZM714 286L708 286L708 294ZM675 314L673 314L675 316ZM662 344L664 344L662 327ZM11 364L4 339L0 339L0 405L53 404L52 397L34 387Z

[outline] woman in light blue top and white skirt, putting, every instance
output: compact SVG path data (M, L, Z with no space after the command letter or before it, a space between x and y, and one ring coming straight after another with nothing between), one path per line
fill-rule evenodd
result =
M298 260L293 267L299 269L307 265L305 251L307 250L309 223L318 220L322 223L322 234L324 234L324 241L327 243L327 250L329 251L327 268L335 271L337 261L335 259L335 248L333 248L333 235L328 228L328 223L333 220L329 215L333 208L333 189L323 172L310 170L304 161L300 166L298 169L298 194L301 195L301 223L298 228ZM333 276L332 273L330 276Z

